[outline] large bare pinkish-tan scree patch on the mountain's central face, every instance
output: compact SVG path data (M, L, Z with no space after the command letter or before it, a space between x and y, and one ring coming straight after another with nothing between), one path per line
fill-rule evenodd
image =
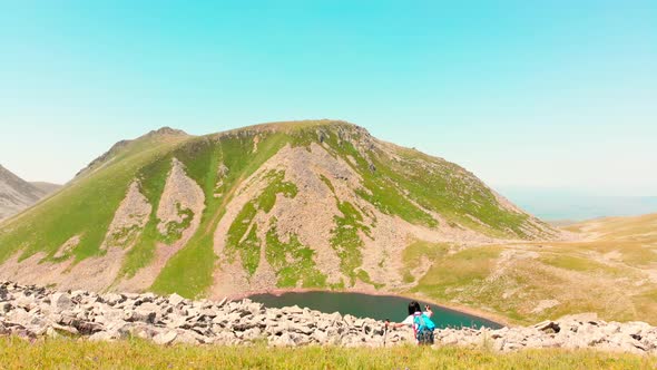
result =
M346 197L347 194L350 197L355 197L353 188L360 186L360 176L346 163L333 157L317 144L312 144L310 149L285 146L239 185L236 192L237 196L228 203L226 214L219 221L215 232L215 253L219 256L220 267L215 274L215 286L212 289L214 295L220 296L239 292L241 288L262 290L273 289L276 285L276 279L257 279L257 281L254 280L249 283L245 280L246 276L234 275L242 266L237 263L229 264L225 261L223 253L231 225L244 205L256 198L266 187L265 175L271 171L284 171L284 181L295 184L297 194L294 198L278 195L268 214L263 211L256 214L252 222L257 223L259 238L265 240L269 222L275 217L280 240L287 241L291 233L297 235L303 245L315 252L315 264L327 275L330 283L336 283L343 276L340 273L340 259L330 242L334 216L340 215L340 211L333 192L322 181L322 176L332 183L339 197ZM263 257L265 249L266 246L263 245ZM266 262L263 257L261 257L261 264ZM224 261L222 262L222 260ZM256 275L271 278L271 272L266 271L268 269L266 266L262 269L263 273L256 272ZM265 274L265 272L267 273ZM238 279L239 276L242 278ZM239 282L235 281L236 279ZM231 281L231 284L227 281ZM259 286L261 284L265 286Z

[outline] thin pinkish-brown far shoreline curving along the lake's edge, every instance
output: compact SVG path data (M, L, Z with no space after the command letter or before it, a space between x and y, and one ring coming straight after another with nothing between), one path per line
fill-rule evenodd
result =
M437 305L440 309L443 309L447 311L453 311L453 312L461 313L461 314L467 314L467 315L473 317L475 319L484 320L484 321L490 321L490 322L501 325L501 327L514 327L514 324L512 324L509 321L509 319L507 319L502 315L499 315L499 314L483 311L483 310L458 305L458 304L453 304L453 303L445 304L445 303L437 302L435 300L433 300L431 298L420 295L420 294L382 292L382 291L367 290L367 289L350 289L350 290L325 290L325 289L316 289L316 288L268 289L268 290L259 290L259 291L248 291L248 292L244 292L244 293L239 293L239 294L232 294L232 295L228 295L227 299L233 300L233 301L239 301L239 300L248 299L252 295L259 295L259 294L272 294L272 295L280 296L285 293L310 293L310 292L359 293L359 294L366 294L366 295L374 295L374 296L395 296L395 298L402 298L402 299L408 299L408 300L424 301L424 302L428 302L432 305Z

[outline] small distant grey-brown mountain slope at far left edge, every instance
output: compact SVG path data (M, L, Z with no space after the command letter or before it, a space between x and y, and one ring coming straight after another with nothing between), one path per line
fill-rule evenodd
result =
M60 186L28 183L0 165L0 221L37 203Z

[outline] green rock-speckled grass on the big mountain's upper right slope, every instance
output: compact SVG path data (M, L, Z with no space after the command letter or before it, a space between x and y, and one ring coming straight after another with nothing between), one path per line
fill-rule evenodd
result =
M350 127L344 132L352 136L351 142L329 135L325 143L361 175L359 196L381 212L434 227L438 221L428 213L433 211L450 224L457 222L491 236L527 238L526 228L543 233L527 222L527 215L502 207L491 189L462 167L401 147L392 148L395 157L376 148L359 150L353 143L364 140L362 133Z

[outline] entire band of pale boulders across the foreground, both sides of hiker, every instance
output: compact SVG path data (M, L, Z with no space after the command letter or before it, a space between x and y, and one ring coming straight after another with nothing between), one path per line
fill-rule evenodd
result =
M298 306L264 308L243 300L189 301L177 294L96 294L56 292L35 285L0 283L0 335L28 339L82 337L119 340L138 337L158 344L384 347L412 342L410 330ZM657 328L644 322L605 322L571 315L533 327L442 329L437 345L514 351L530 348L594 348L657 354Z

